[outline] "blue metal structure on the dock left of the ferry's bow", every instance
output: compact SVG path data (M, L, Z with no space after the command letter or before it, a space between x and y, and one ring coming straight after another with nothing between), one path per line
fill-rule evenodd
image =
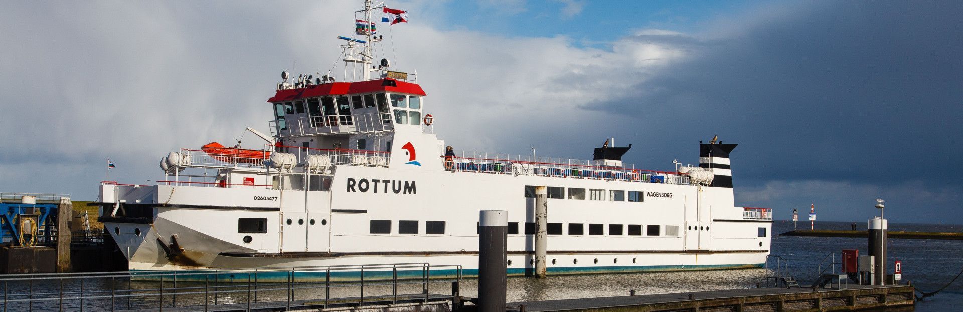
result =
M57 204L23 204L0 203L0 240L12 246L19 246L20 215L39 216L37 224L37 242L49 243L54 237L54 219L57 216Z

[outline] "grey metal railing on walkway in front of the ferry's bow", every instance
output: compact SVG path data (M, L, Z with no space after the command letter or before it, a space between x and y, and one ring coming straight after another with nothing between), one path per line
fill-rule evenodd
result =
M10 274L3 311L328 308L459 298L461 266L427 263L257 270ZM443 295L432 294L434 289Z

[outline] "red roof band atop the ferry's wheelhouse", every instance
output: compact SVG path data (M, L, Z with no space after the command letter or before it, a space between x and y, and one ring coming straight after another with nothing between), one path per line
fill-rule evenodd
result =
M395 86L385 86L387 81L394 82ZM388 82L387 84L390 84ZM412 84L391 78L367 80L359 82L332 82L321 85L311 85L306 88L278 90L268 102L281 102L296 100L305 97L325 96L325 95L344 95L354 93L370 93L377 91L399 92L415 95L426 95L418 84Z

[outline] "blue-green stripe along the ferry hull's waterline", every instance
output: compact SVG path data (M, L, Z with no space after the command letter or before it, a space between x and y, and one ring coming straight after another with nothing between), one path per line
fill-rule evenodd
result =
M709 271L709 270L735 270L735 269L758 269L762 268L762 264L749 264L749 265L706 265L706 266L620 266L620 267L571 267L571 268L548 268L549 274L556 275L566 275L566 274L591 274L591 273L651 273L651 272L681 272L681 271ZM288 282L288 272L230 272L230 273L212 273L203 271L171 271L165 273L153 272L143 272L143 275L137 276L138 271L132 271L135 275L134 279L138 280L160 280L160 276L164 276L164 280L169 281L174 278L180 281L195 281L203 282L207 281L219 281L219 282L247 282L247 278L251 281L255 279L257 282ZM206 273L206 274L205 274ZM457 277L456 270L432 270L431 278L455 278ZM472 270L462 270L461 277L478 277L478 269ZM533 275L533 268L511 268L508 269L509 276L525 276ZM391 271L365 271L365 280L385 280L391 279L393 273ZM335 271L330 273L330 281L357 281L361 277L360 271ZM425 278L424 271L398 271L399 279L422 279ZM308 282L308 281L325 281L325 272L295 272L294 279L296 282Z

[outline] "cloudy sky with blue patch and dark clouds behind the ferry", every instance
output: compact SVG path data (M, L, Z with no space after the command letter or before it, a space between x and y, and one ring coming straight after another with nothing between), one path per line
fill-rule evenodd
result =
M417 70L458 149L698 163L778 220L963 223L963 2L391 1L379 58ZM0 192L94 199L181 147L268 132L279 73L340 77L355 1L0 2ZM242 137L243 136L243 137ZM253 146L251 146L253 147ZM804 218L803 218L804 219Z

